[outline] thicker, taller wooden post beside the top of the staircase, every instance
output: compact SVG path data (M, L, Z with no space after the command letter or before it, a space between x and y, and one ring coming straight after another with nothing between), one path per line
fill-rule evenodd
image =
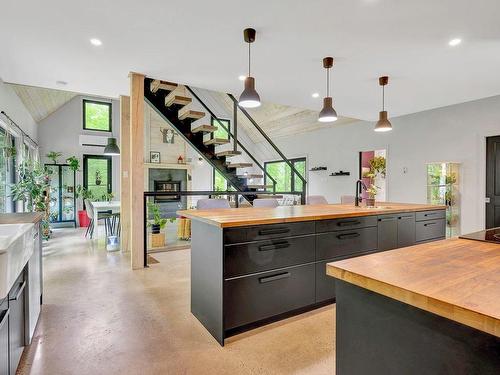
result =
M130 73L130 253L144 267L144 75Z

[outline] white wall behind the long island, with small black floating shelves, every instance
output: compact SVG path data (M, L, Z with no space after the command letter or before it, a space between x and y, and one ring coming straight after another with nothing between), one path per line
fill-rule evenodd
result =
M359 151L387 150L387 194L393 202L425 203L425 164L460 162L462 233L484 228L485 138L500 135L500 96L393 118L391 122L393 131L389 133L376 133L374 123L360 121L333 124L331 129L277 138L275 142L289 158L306 156L309 168L328 167L327 172L308 172L308 194L323 194L332 203L343 194L354 194ZM350 171L351 176L328 176L339 169Z

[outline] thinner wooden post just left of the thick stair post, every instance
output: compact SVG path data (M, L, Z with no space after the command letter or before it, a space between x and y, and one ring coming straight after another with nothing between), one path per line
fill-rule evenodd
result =
M120 96L120 226L121 249L130 251L130 97Z

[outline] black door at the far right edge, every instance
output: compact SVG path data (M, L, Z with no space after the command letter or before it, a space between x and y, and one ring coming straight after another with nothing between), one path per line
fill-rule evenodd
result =
M486 138L486 199L486 228L500 227L500 136Z

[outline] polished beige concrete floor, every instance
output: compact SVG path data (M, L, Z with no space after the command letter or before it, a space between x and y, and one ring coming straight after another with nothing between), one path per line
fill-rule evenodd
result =
M189 309L189 250L127 254L64 229L44 246L44 305L21 374L333 374L334 307L235 336L225 347Z

